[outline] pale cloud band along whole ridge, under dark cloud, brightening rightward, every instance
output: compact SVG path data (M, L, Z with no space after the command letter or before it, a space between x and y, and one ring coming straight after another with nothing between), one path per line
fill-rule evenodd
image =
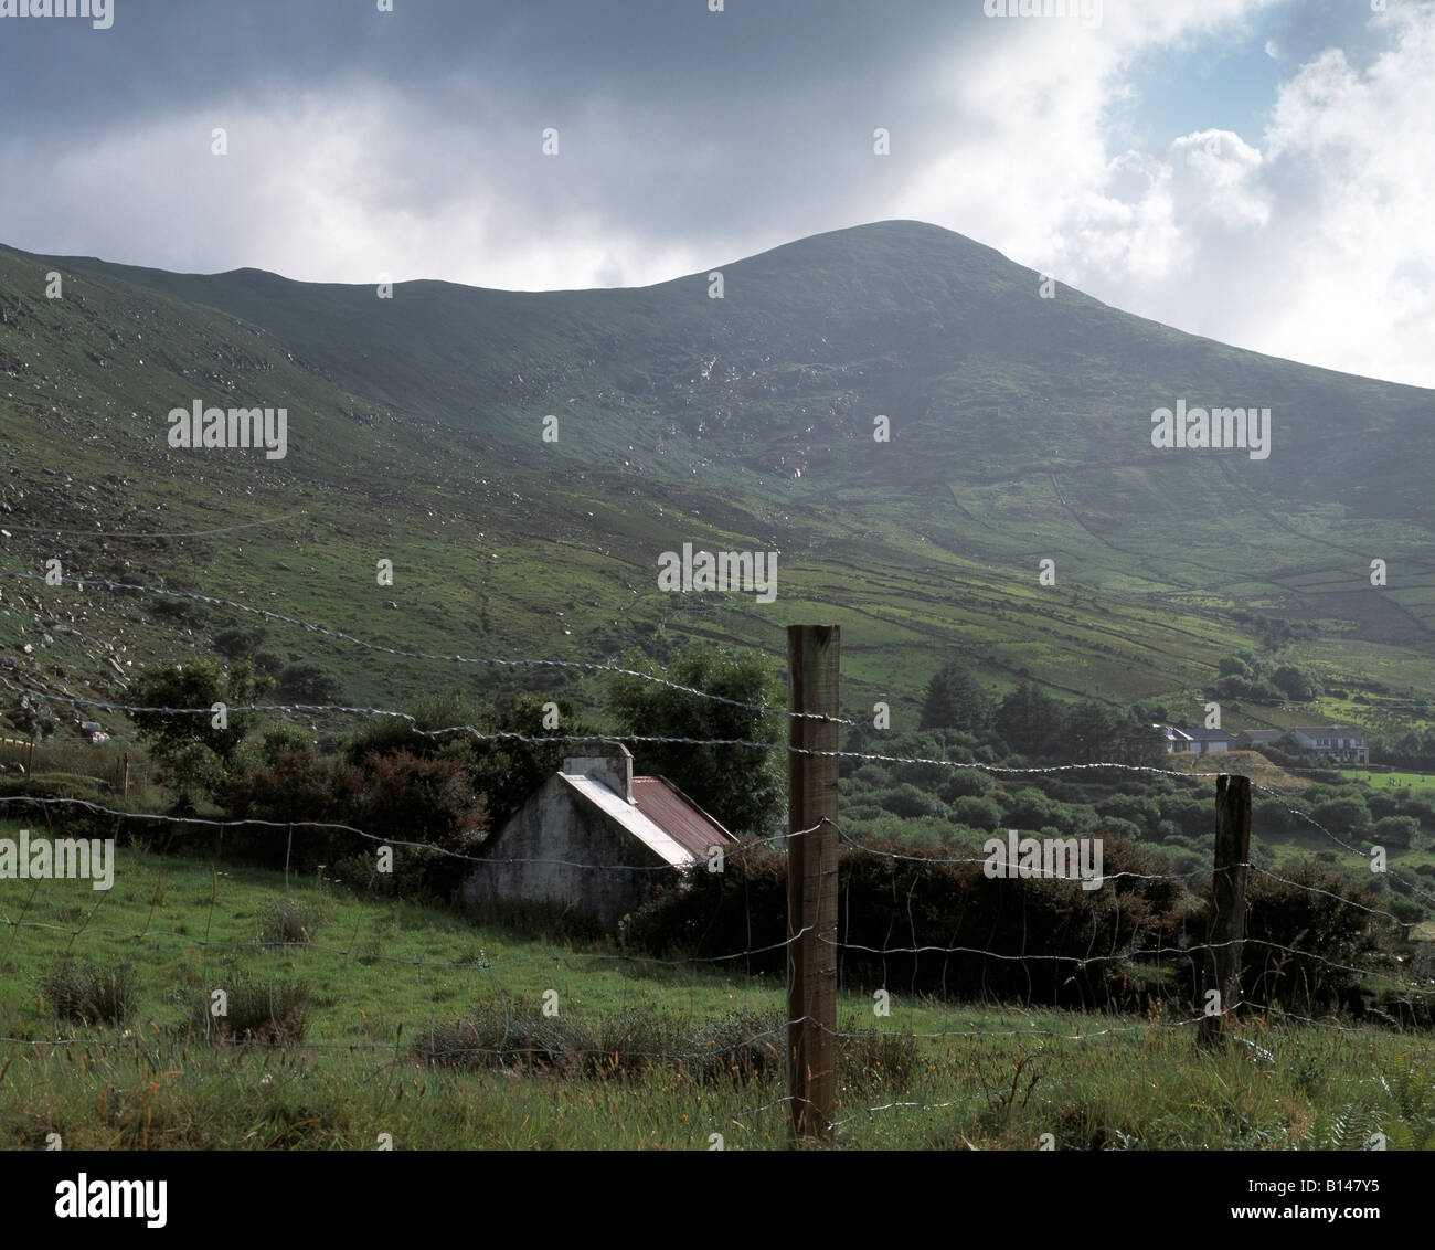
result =
M557 158L538 151L551 119L515 116L528 105L482 80L458 96L367 79L244 92L59 155L16 132L0 182L43 194L4 198L6 241L187 271L531 290L654 283L910 217L1192 333L1435 386L1435 112L1412 103L1435 80L1432 6L1283 60L1260 135L1213 125L1152 151L1115 138L1114 106L1151 57L1260 46L1254 23L1277 3L1105 0L1096 30L973 7L954 46L924 49L835 126L835 88L791 103L735 92L702 113L614 88L565 115ZM875 123L894 126L890 158L871 155ZM212 125L230 129L227 158L208 152Z

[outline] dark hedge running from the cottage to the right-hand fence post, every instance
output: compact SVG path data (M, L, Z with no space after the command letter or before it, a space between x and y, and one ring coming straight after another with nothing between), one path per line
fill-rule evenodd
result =
M1119 838L1104 845L1108 878L1126 871L1155 880L1119 877L1099 890L992 880L980 863L946 863L960 858L946 850L864 841L865 848L844 842L838 850L838 962L848 989L900 985L917 993L1106 1005L1114 962L1086 963L1091 953L1174 940L1171 917L1185 897L1180 883L1162 878L1164 860ZM723 873L666 890L624 930L626 944L657 956L749 950L745 972L779 976L785 939L786 860L769 848L732 855ZM905 950L916 946L970 950ZM1038 953L1043 957L1013 957Z

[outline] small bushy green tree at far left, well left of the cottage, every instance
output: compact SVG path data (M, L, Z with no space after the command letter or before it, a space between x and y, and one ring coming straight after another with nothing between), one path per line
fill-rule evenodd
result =
M177 709L129 715L141 741L168 768L179 807L189 807L195 792L214 792L257 719L255 712L234 709L254 703L273 685L270 677L254 676L247 660L230 672L217 660L162 664L135 679L136 703ZM215 705L224 706L215 710Z

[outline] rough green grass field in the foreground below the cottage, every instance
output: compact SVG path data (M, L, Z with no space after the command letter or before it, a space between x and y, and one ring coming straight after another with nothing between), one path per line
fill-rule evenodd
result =
M321 878L119 854L108 893L0 883L6 1147L785 1142L784 987L742 960L624 959ZM280 921L310 940L280 941ZM128 1012L59 1018L66 957L131 970ZM207 995L228 987L238 1015L245 986L265 1020L278 1005L280 1040L205 1040ZM884 1018L845 993L839 1030L839 1147L1025 1150L1052 1134L1062 1150L1359 1150L1376 1132L1435 1147L1435 1042L1421 1035L1254 1018L1243 1036L1274 1056L1257 1062L1244 1045L1204 1051L1170 1018L900 989ZM541 1056L474 1049L515 1045Z

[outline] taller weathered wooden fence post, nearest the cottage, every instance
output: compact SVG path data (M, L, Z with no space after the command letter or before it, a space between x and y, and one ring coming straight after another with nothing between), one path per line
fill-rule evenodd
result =
M788 1095L792 1137L825 1137L837 1094L838 626L788 626ZM822 720L821 716L831 719ZM799 832L805 831L805 832Z

